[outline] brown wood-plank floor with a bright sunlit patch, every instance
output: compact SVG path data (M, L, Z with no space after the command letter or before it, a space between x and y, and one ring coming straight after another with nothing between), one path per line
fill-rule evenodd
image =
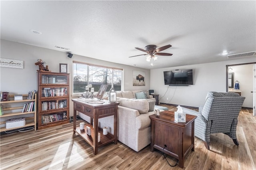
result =
M162 105L169 110L176 106ZM195 137L195 151L185 159L185 170L254 170L256 168L256 117L252 110L242 109L239 115L237 137L239 146L224 134L211 136L210 150ZM81 121L78 121L79 124ZM0 169L61 170L176 170L170 167L162 152L150 152L150 145L135 152L128 146L108 144L98 154L78 134L73 135L72 123L43 130L1 134ZM176 159L166 156L171 165Z

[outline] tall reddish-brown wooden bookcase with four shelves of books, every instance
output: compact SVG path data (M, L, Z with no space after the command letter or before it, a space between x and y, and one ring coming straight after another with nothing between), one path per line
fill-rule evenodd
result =
M38 71L38 129L69 122L69 74Z

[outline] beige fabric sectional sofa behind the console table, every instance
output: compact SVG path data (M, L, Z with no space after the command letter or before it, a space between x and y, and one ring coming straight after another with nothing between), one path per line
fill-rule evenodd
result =
M150 144L151 122L149 116L154 114L154 106L152 108L150 104L156 101L152 95L148 94L148 99L136 99L135 93L137 92L142 91L116 92L117 101L120 102L118 105L118 140L135 151ZM99 119L99 127L108 127L108 132L112 134L113 123L114 116Z

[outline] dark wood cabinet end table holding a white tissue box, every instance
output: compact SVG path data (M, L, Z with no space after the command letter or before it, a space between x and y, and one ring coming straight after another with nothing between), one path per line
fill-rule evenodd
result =
M177 158L180 168L183 168L185 156L190 150L194 151L194 120L196 116L186 114L186 123L178 123L174 121L174 112L163 111L160 112L160 117L151 115L150 119L151 152L154 148L163 151Z

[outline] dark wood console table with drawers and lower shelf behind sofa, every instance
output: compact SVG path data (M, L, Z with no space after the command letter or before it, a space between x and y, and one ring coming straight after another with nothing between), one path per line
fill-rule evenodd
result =
M97 100L97 99L96 99ZM90 146L93 147L93 153L96 155L98 153L98 147L114 142L117 144L117 107L119 103L108 103L104 100L103 104L89 104L78 99L72 99L74 103L74 134L77 132ZM85 124L84 129L76 127L76 114L80 113L90 117L90 124ZM108 133L103 135L102 128L98 127L98 119L102 117L108 117L114 115L114 134ZM93 128L94 121L94 128ZM91 136L86 133L86 126L91 128ZM100 133L100 142L98 142L98 132Z

